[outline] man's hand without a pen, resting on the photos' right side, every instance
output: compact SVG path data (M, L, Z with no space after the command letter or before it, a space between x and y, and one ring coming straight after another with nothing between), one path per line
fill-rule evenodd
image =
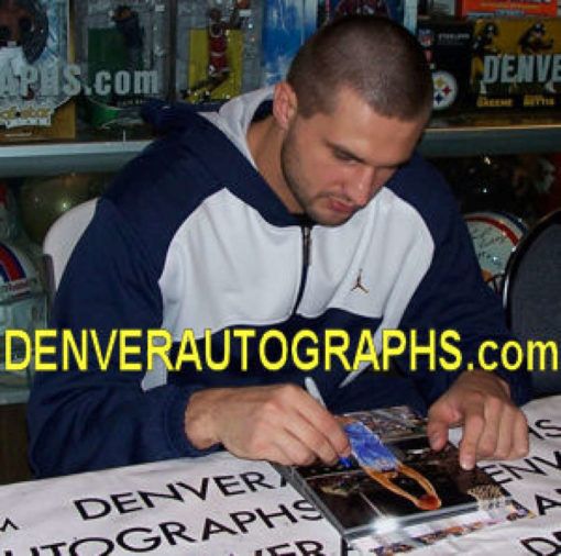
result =
M510 400L508 385L492 372L465 371L429 410L427 434L442 449L448 429L463 425L460 465L477 459L518 459L528 453L528 424Z

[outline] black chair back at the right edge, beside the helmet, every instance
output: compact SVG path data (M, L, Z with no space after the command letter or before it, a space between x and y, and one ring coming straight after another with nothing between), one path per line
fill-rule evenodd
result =
M561 393L561 209L517 244L505 273L503 302L507 324L524 346L530 340L551 342L544 370L532 371L534 397Z

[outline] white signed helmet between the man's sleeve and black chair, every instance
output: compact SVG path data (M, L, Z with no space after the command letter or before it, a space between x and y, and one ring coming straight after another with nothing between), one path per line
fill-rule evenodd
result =
M506 264L526 224L516 216L501 212L470 212L464 221L472 236L483 279L497 293L503 289Z

